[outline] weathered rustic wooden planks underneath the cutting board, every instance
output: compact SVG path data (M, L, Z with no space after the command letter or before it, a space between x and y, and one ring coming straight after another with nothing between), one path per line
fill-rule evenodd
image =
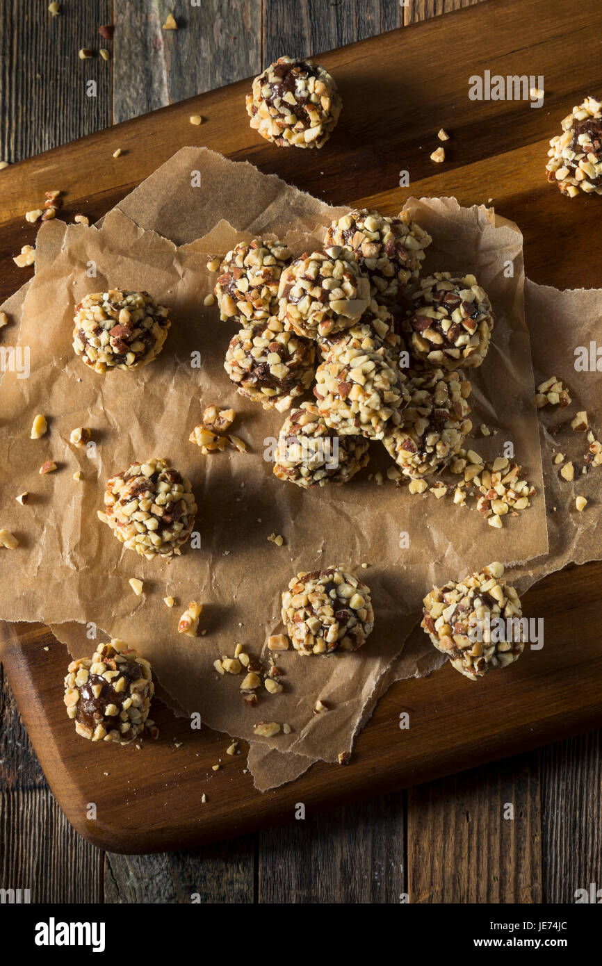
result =
M0 0L0 159L17 161L257 73L477 0ZM490 0L495 3L496 0ZM525 0L528 2L528 0ZM181 34L164 43L170 11ZM98 34L115 24L113 42ZM82 62L80 47L111 51ZM83 96L85 77L98 97ZM123 856L76 836L0 668L0 887L51 902L571 902L602 867L598 731L193 852ZM514 805L514 821L503 817Z

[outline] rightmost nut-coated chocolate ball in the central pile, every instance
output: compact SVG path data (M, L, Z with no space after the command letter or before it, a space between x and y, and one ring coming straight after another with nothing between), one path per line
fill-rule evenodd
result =
M474 275L438 271L420 280L405 327L416 358L443 369L476 368L494 327L491 302Z

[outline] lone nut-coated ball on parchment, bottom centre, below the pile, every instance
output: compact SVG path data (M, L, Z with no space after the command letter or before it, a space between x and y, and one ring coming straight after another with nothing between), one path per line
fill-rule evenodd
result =
M370 590L341 566L298 574L282 594L282 620L300 654L356 651L374 627Z

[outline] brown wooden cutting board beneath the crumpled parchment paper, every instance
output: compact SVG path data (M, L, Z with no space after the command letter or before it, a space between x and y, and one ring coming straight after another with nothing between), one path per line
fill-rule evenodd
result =
M51 188L64 215L99 218L160 163L203 144L332 204L396 213L410 194L493 199L525 235L530 277L559 288L599 286L599 198L562 198L545 180L547 141L586 93L602 92L599 0L492 0L416 27L325 54L344 110L320 151L276 150L248 127L248 83L167 107L33 157L0 174L0 299L28 273L12 255L35 239L23 214ZM473 74L543 74L541 109L524 101L471 100ZM200 128L189 124L201 114ZM446 158L429 156L445 128ZM116 148L122 155L112 157ZM410 173L400 188L399 173ZM244 199L241 199L244 204ZM3 557L5 568L12 561ZM14 579L5 569L4 579ZM110 851L153 851L225 838L293 820L297 803L342 801L473 767L576 734L602 721L602 563L567 568L525 597L545 614L541 651L473 684L452 668L395 685L358 736L347 768L319 763L299 781L261 795L244 754L224 735L191 731L157 702L157 742L141 751L91 746L74 734L62 703L65 647L41 625L4 625L0 656L46 778L73 826ZM409 730L399 715L410 713ZM242 746L244 748L244 746ZM221 759L222 766L212 766ZM207 803L201 804L205 793ZM96 805L95 819L88 817Z

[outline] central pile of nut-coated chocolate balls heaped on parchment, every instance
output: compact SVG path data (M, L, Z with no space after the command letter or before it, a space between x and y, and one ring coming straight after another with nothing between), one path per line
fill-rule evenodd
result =
M409 214L352 211L320 251L242 241L219 268L222 320L239 324L225 369L280 412L274 473L301 487L345 483L381 440L407 480L444 469L472 429L471 384L494 325L473 275L419 278L430 236ZM408 366L407 360L410 359ZM312 387L313 384L313 387Z

